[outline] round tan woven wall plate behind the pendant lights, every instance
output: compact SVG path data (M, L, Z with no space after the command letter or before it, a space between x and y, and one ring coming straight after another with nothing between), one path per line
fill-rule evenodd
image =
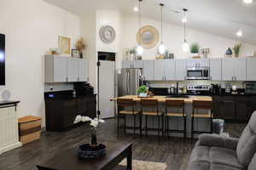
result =
M137 31L137 43L143 48L154 48L159 42L159 33L153 26L143 26Z

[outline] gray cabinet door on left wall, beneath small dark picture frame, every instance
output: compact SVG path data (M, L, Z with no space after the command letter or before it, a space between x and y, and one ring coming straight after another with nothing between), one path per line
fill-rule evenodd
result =
M67 61L67 82L79 82L79 59L70 58Z

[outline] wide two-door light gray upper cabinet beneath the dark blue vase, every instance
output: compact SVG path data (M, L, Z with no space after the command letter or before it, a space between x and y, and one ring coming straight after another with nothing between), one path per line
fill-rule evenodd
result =
M246 81L247 59L223 59L222 80L223 81Z

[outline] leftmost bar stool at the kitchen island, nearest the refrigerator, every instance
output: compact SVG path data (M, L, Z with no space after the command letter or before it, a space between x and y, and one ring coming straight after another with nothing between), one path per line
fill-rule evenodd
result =
M133 99L117 99L117 105L118 105L118 120L117 120L117 133L119 135L119 119L120 116L123 116L124 118L124 133L126 133L126 129L133 129L133 135L136 133L136 116L140 113L140 111L135 111L136 108L136 102L133 101ZM126 111L125 107L131 107L131 111ZM133 116L133 127L126 127L126 115Z

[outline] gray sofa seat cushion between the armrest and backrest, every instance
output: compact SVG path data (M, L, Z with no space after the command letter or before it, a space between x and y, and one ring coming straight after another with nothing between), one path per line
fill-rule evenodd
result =
M222 164L229 167L236 167L240 169L243 168L243 166L237 160L236 150L212 147L210 149L210 160L211 164Z

